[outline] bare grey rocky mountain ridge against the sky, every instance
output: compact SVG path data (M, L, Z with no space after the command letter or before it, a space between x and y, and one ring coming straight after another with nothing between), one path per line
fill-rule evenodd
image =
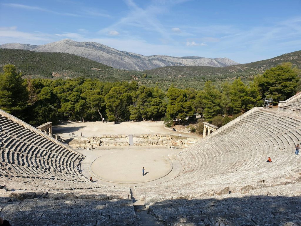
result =
M172 57L163 55L144 56L132 52L119 51L97 42L76 42L63 39L45 45L36 46L20 43L8 43L2 49L25 49L36 52L62 52L82 56L117 69L144 71L166 66L212 66L225 67L238 64L228 58Z

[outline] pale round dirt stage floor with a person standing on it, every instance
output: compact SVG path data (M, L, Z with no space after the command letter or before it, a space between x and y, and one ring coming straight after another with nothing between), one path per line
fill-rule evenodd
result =
M110 149L80 150L86 156L83 165L89 171L83 174L113 183L136 184L159 179L172 170L170 158L175 158L178 150L166 147L113 147ZM142 167L145 175L142 175ZM82 167L83 169L84 167ZM95 180L94 179L94 180Z

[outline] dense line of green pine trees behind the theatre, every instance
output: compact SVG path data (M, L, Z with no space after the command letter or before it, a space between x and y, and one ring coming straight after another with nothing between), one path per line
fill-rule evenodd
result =
M207 81L202 90L178 89L167 92L158 87L131 82L103 82L97 79L23 79L14 65L0 74L0 108L37 126L47 121L109 121L185 119L194 113L205 121L216 117L230 121L228 115L262 106L262 98L272 95L274 102L293 96L299 89L299 70L284 63L257 75L248 84L240 78L217 89ZM215 118L214 118L215 117Z

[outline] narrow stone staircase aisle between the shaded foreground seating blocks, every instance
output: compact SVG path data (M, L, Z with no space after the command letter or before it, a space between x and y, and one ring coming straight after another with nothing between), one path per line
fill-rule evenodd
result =
M153 226L162 225L160 222L156 221L156 218L148 213L148 210L144 207L144 202L138 199L134 187L131 188L131 197L133 199L133 205L139 226Z

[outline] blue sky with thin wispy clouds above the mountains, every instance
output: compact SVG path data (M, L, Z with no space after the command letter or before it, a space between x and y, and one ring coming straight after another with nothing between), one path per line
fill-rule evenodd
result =
M0 44L66 38L248 63L301 50L301 1L0 1Z

